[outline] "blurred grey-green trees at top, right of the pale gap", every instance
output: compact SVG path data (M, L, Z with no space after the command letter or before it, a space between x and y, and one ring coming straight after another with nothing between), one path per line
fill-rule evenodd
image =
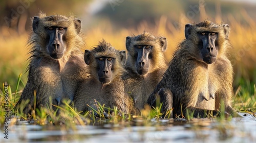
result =
M180 1L155 1L155 0L109 0L109 3L98 13L96 17L109 17L115 27L132 28L136 27L140 22L155 25L155 21L159 20L162 15L167 16L168 22L175 23L179 21L180 14L184 14L190 21L199 22L200 12L199 4L205 7L207 18L214 19L216 15L221 20L228 21L227 17L232 15L243 24L244 15L241 10L246 10L248 15L254 20L256 19L255 5L246 3L236 3L230 1L210 1L210 0L180 0Z

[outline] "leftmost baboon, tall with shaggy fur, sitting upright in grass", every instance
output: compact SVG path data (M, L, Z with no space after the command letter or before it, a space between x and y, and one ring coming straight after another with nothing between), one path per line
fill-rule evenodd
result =
M29 101L23 110L25 114L30 113L34 105L34 91L36 108L49 106L49 98L53 105L60 105L62 99L73 100L78 85L87 76L83 53L79 50L84 47L79 34L80 19L46 16L40 12L33 17L32 29L28 41L32 45L28 82L16 104L21 107L23 101Z

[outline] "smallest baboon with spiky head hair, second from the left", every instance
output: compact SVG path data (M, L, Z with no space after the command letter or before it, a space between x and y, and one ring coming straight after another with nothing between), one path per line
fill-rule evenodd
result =
M125 114L136 114L133 100L124 92L121 75L125 72L125 51L115 50L104 39L93 50L84 52L84 61L90 69L90 76L84 80L74 97L74 106L78 111L97 108L95 100L105 107L117 109ZM88 106L89 105L89 106Z

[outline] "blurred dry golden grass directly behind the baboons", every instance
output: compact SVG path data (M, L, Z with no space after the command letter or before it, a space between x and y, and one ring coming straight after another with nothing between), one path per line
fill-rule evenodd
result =
M244 13L246 17L246 13ZM200 19L205 19L205 14L201 15ZM215 19L211 19L213 22L220 23L221 19L216 16ZM234 65L234 85L238 87L241 78L255 84L256 78L253 76L256 74L256 33L254 30L255 22L247 16L246 26L241 25L236 18L229 16L228 21L225 23L230 25L230 42L233 45L233 49L229 50L230 60ZM87 46L84 49L91 49L92 46L98 44L102 38L112 43L112 45L118 50L125 50L125 38L132 34L140 34L143 31L151 32L155 35L164 36L167 38L167 51L165 52L167 61L172 58L172 54L178 45L178 43L185 38L184 27L186 23L191 23L190 19L187 19L185 15L181 14L179 21L180 27L177 28L173 23L168 22L167 17L162 16L156 22L154 27L147 25L147 22L141 22L134 29L120 29L116 30L109 20L104 20L96 27L83 31L84 40ZM199 21L195 21L199 22ZM29 37L29 32L19 35L15 31L2 27L2 36L0 36L0 82L7 81L8 83L16 83L16 79L20 73L25 73L27 54L29 49L26 45L26 41ZM81 49L82 51L84 49ZM22 77L26 82L26 75Z

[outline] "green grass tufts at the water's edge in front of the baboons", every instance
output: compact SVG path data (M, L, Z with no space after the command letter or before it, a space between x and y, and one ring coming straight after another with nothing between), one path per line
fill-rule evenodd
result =
M17 84L14 88L11 88L10 85L6 86L6 83L3 84L3 90L0 92L0 105L2 107L5 107L6 101L4 100L4 94L8 92L8 109L9 111L9 117L11 115L14 120L12 120L12 125L16 124L16 122L22 120L22 121L29 121L30 124L36 124L40 126L45 125L54 125L54 126L60 126L61 130L77 130L77 125L86 126L89 124L94 123L100 123L102 121L107 121L107 123L111 124L120 124L123 122L130 122L133 121L136 118L143 120L144 126L151 125L152 118L155 118L156 120L159 120L160 117L163 115L162 111L162 104L159 104L154 109L151 109L150 107L145 107L141 110L140 115L125 115L124 113L121 113L117 110L117 108L109 108L105 107L104 104L101 105L99 102L95 101L95 104L97 105L97 108L94 109L91 107L90 111L87 112L78 112L71 101L65 101L64 104L61 106L55 106L57 107L57 110L54 111L52 109L52 105L50 104L48 107L35 109L35 106L32 110L32 115L26 116L22 112L22 108L20 107L20 110L14 111L13 107L15 106L16 102L18 101L21 91L17 91L18 87L21 86L24 88L23 81L20 79L20 76L17 78ZM256 96L256 88L254 85L253 93L250 93L246 88L245 85L241 85L235 95L234 98L234 108L237 110L241 110L245 113L254 115L253 112L256 110L256 104L255 104L255 96ZM14 91L12 89L15 89ZM51 103L51 99L50 99ZM24 103L23 105L25 105ZM222 103L223 104L223 103ZM90 106L89 106L90 107ZM221 106L224 107L224 106ZM34 110L35 109L35 110ZM3 123L5 122L5 118L3 116L6 114L5 108L0 108L0 127L3 126ZM57 114L58 112L58 114ZM170 113L172 112L172 109L167 111L164 118L169 118ZM97 114L97 116L96 116ZM179 115L178 118L183 118L184 116ZM211 120L212 115L205 115L206 118L209 118ZM198 120L197 118L193 118L193 112L190 112L186 116L186 121L191 124L193 124L193 121ZM220 139L225 139L232 137L232 133L230 133L231 125L229 124L229 121L231 120L231 116L226 116L224 109L220 109L220 115L217 117L217 125L215 128L220 132ZM212 121L214 122L214 121ZM198 127L197 127L198 128Z

